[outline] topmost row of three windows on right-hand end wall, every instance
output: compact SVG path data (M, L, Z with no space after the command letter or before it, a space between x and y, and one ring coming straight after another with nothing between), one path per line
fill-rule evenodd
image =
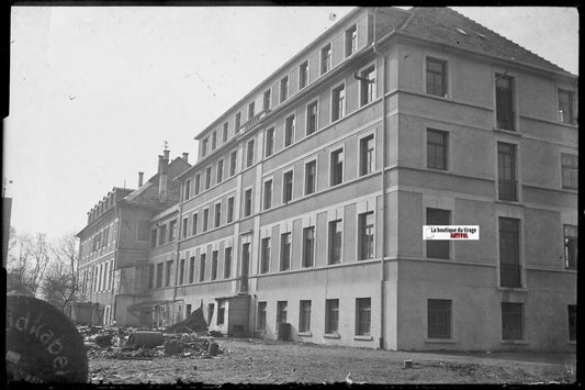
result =
M448 63L427 57L427 93L441 98L448 97ZM495 74L496 123L498 129L516 131L515 78L505 74ZM576 124L575 94L566 89L558 89L559 122Z

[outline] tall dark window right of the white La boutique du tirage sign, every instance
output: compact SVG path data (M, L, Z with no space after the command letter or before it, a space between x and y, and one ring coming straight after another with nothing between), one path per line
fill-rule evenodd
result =
M499 286L521 287L519 220L499 218Z

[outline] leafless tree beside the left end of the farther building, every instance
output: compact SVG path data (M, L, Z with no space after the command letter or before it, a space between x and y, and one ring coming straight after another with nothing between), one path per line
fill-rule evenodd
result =
M50 266L43 279L43 294L48 302L66 311L80 292L76 236L63 236L53 246L52 254Z

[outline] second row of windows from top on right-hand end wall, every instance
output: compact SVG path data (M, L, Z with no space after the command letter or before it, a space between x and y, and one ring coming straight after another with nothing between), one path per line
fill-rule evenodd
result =
M427 129L427 167L448 170L449 133ZM515 144L497 143L498 199L518 200L517 148ZM561 153L561 185L578 188L578 157Z

